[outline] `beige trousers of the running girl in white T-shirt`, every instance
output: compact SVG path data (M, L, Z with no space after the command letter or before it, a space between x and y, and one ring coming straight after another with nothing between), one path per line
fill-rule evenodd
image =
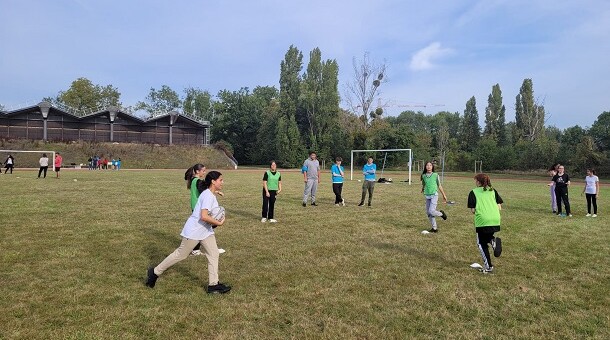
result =
M218 245L216 245L216 236L214 235L210 235L201 241L191 240L183 237L180 246L176 250L174 250L173 253L169 254L165 258L165 260L161 261L158 266L155 267L155 274L161 275L169 267L186 259L193 250L193 248L195 248L197 243L201 243L201 248L203 248L204 250L205 257L208 258L209 285L213 286L218 284L218 257L220 256L220 253L218 252Z

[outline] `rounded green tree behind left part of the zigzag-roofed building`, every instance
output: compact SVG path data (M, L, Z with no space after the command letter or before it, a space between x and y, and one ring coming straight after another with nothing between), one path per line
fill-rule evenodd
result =
M121 106L120 97L121 93L112 85L95 85L87 78L78 78L69 89L60 91L52 103L78 112L97 112L109 106Z

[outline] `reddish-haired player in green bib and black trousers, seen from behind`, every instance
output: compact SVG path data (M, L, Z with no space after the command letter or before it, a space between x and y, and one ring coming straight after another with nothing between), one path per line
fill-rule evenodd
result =
M468 208L474 214L477 245L483 258L481 272L490 273L494 267L491 264L488 244L491 244L495 257L502 254L502 239L495 237L494 233L500 231L500 211L504 202L498 191L491 186L488 175L477 174L474 181L476 188L468 194Z

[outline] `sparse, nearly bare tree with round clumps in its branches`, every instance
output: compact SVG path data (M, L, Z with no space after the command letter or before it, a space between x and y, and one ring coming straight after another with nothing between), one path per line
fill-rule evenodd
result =
M379 86L385 83L386 64L374 63L369 53L364 53L362 60L354 57L354 79L346 84L345 100L353 112L358 113L365 127L369 126L369 117L374 119L383 110L376 110L373 101L379 96Z

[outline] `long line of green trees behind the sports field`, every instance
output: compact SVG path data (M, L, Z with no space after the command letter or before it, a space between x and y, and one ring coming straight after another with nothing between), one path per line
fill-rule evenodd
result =
M309 52L305 63L303 52L290 46L279 66L279 89L243 87L214 96L193 87L179 94L163 85L125 108L117 88L79 78L44 100L85 111L110 105L149 115L180 110L209 121L211 141L231 151L240 164L273 159L280 167L297 167L310 150L332 161L337 156L349 159L352 149L411 148L418 160L445 155L445 168L451 171L472 170L474 161L482 160L486 171L537 170L559 162L572 172L594 167L610 174L610 112L601 113L589 128L546 126L547 114L534 96L532 79L523 80L513 102L515 121L510 122L500 85L493 85L481 127L474 96L463 113L408 110L384 116L383 107L373 103L385 83L385 64L375 64L368 54L353 60L353 79L343 97L349 109L339 105L339 65L323 59L319 48ZM388 154L388 159L399 157Z

